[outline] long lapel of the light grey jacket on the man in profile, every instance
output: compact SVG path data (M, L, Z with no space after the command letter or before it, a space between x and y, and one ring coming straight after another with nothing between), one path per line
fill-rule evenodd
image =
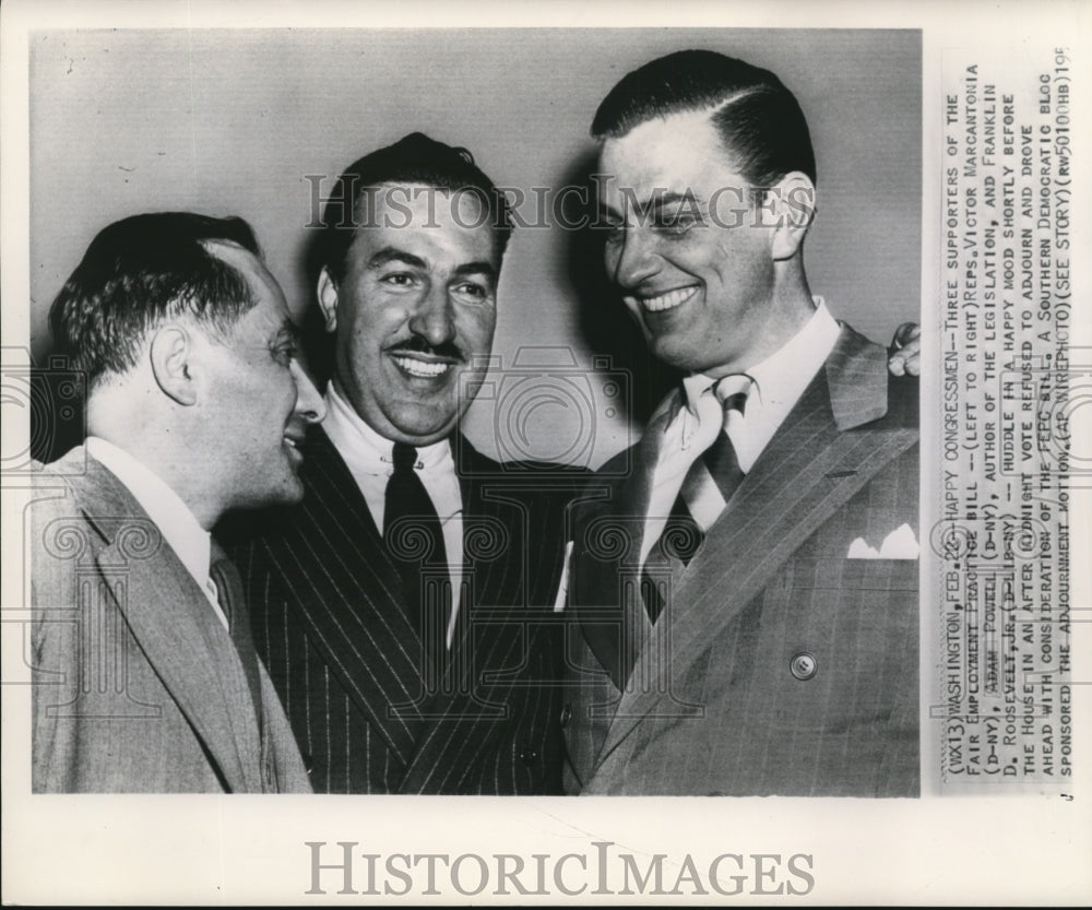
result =
M207 599L126 486L93 459L81 508L107 545L95 557L144 657L228 788L261 792L242 665Z

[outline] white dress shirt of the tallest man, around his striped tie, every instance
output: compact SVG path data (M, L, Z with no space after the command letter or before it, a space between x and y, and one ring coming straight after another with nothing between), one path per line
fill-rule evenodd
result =
M685 406L665 427L660 440L641 541L641 565L660 539L690 466L712 445L716 434L728 434L739 468L747 474L822 367L838 341L840 329L822 298L816 297L815 303L816 311L807 323L778 351L748 369L740 377L741 381L737 380L740 388L748 386L746 379L750 380L741 414L738 411L725 413L722 409L713 393L716 379L695 374L682 380ZM669 403L670 400L664 402L652 419ZM726 505L708 475L688 485L682 495L702 531L709 530Z

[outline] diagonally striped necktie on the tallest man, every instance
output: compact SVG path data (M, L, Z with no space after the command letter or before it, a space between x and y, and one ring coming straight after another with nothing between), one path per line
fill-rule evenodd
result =
M720 399L723 409L725 425L729 412L744 413L749 387L750 379L743 376L726 376L713 387L713 393ZM672 506L664 530L644 560L644 566L641 569L641 596L644 600L644 608L649 613L649 618L653 623L660 617L664 607L664 588L670 577L672 557L681 562L684 566L688 566L705 539L704 532L690 515L684 496L688 487L698 484L700 475L704 472L709 473L720 489L721 496L724 497L724 501L727 503L744 478L744 472L739 468L739 459L736 457L736 449L732 445L727 429L717 433L712 445L690 465L690 470L687 471L686 477L682 480L679 494L675 497L675 504Z

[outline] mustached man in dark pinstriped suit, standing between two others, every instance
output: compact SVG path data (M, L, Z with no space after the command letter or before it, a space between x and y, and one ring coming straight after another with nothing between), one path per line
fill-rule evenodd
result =
M248 516L233 551L311 782L558 792L548 621L572 491L459 432L492 344L507 204L468 152L414 133L346 169L322 232L328 416L302 504Z

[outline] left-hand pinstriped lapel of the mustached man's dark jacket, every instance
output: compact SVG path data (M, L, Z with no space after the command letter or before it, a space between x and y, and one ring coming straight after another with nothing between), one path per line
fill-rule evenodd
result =
M308 437L302 505L292 510L286 582L331 670L410 763L420 733L422 646L364 496L320 427Z

